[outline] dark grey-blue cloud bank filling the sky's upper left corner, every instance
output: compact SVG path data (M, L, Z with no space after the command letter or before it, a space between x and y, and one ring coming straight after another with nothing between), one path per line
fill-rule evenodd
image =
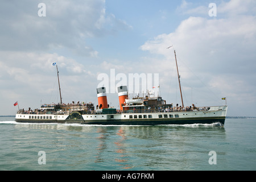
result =
M97 51L86 44L86 38L130 28L125 21L105 13L105 0L44 1L45 17L38 16L39 3L25 0L1 4L2 50L68 48L82 55L97 56Z

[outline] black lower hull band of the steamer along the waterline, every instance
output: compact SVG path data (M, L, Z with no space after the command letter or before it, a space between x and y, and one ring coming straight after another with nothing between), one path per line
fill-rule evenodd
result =
M84 125L192 125L192 124L212 124L218 123L224 126L225 117L208 117L208 118L172 118L172 119L133 119L133 120L101 120L101 121L77 121L66 119L65 121L56 120L38 120L38 119L15 119L21 123L80 123Z

